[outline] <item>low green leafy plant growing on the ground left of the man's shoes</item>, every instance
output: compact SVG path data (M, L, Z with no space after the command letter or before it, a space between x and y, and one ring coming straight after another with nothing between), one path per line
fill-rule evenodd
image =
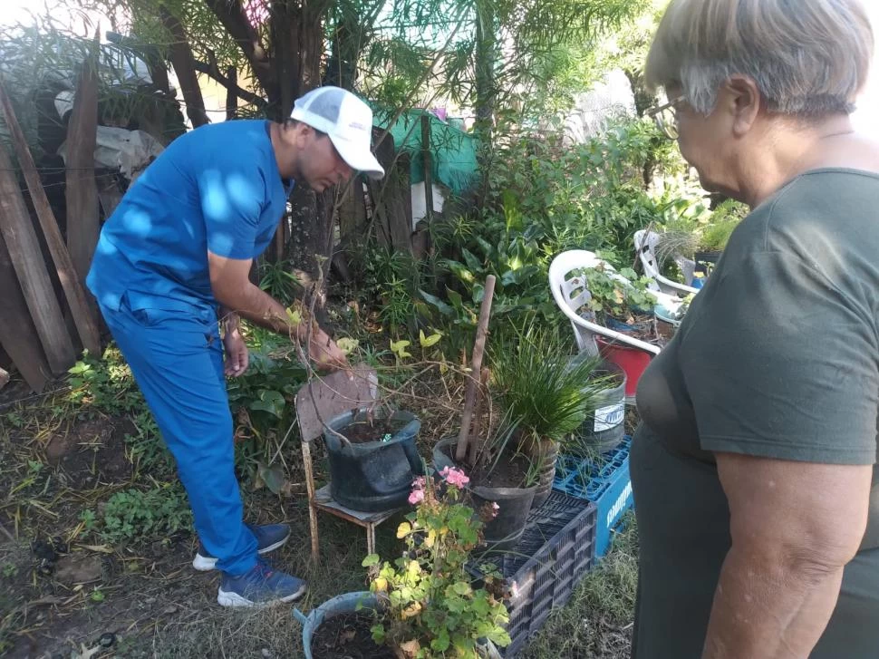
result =
M192 512L179 484L116 492L100 512L83 510L80 518L86 529L111 545L167 540L192 526Z

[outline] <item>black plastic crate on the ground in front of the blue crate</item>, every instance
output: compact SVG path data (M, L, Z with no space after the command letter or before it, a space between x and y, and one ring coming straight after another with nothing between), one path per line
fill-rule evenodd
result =
M490 564L507 580L507 632L512 643L503 650L511 659L546 622L553 609L565 606L580 579L593 566L595 507L562 492L532 510L522 539L504 553L487 554L468 566L474 577Z

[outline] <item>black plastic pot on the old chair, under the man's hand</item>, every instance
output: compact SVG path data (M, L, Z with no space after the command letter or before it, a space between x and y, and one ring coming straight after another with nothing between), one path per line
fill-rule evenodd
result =
M363 422L368 422L367 412L353 410L333 418L327 425L344 435L353 424ZM400 429L388 441L346 444L334 432L324 431L330 491L343 506L381 512L399 508L409 499L412 480L424 473L424 463L415 447L421 422L411 412L394 412L391 423Z

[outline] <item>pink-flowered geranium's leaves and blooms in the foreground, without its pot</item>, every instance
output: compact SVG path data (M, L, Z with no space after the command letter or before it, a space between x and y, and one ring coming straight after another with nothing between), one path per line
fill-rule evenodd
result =
M463 471L447 467L441 476L442 486L424 478L413 484L416 509L397 528L403 556L392 564L376 554L363 560L373 568L370 589L382 605L372 638L412 659L476 659L480 638L501 647L510 643L500 575L488 572L485 587L474 588L465 567L496 511L487 505L475 514L464 503Z

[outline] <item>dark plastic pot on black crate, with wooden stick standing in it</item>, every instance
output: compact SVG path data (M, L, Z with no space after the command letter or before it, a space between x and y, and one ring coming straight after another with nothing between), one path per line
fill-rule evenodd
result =
M459 467L452 459L457 440L454 437L440 440L433 447L433 467L440 472L444 467ZM536 487L487 488L481 485L468 487L475 509L486 503L497 503L497 517L482 530L486 550L503 551L516 546L525 533L528 513L531 511Z

